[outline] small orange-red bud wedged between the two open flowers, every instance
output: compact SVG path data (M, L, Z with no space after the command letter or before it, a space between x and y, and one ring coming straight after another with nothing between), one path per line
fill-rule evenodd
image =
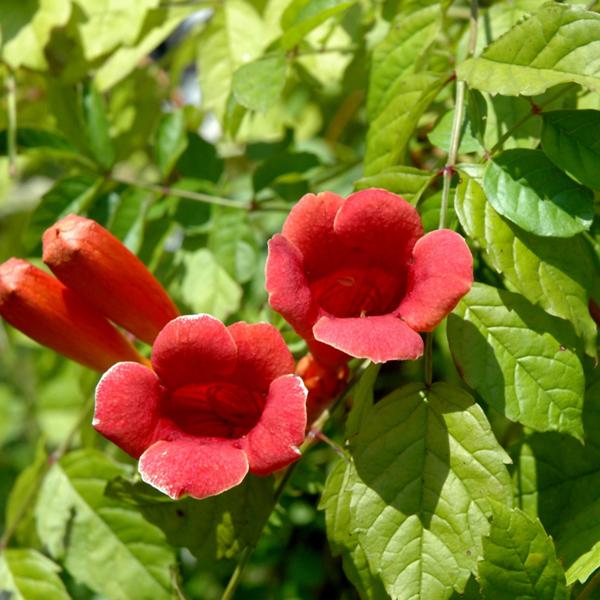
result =
M298 361L296 375L302 377L308 389L306 411L309 426L344 389L349 373L346 364L326 367L317 362L312 354L307 354Z

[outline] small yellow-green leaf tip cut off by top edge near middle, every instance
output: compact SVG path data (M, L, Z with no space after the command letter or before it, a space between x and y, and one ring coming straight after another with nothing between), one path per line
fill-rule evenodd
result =
M282 47L290 50L298 45L313 29L327 19L345 11L355 1L292 0L281 15Z

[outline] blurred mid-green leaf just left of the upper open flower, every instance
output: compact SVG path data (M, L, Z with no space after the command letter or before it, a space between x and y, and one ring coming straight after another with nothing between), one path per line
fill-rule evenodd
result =
M207 247L235 281L246 283L254 276L258 258L246 211L214 207Z

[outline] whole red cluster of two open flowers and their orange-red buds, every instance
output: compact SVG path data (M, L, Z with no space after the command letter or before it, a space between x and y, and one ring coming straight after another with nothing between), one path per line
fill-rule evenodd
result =
M43 247L56 277L20 259L0 265L0 315L106 371L94 427L172 498L218 494L249 471L266 475L296 460L307 422L345 386L349 359L418 358L419 332L473 281L461 236L423 235L400 196L304 196L269 242L266 266L271 306L310 349L294 374L272 325L179 316L143 263L96 222L70 215L45 232ZM130 338L152 346L151 360Z

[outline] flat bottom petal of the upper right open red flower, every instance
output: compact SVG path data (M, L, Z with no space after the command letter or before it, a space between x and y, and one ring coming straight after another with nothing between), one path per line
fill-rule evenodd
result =
M376 363L414 360L423 354L423 340L392 315L338 319L321 317L313 328L317 340Z

